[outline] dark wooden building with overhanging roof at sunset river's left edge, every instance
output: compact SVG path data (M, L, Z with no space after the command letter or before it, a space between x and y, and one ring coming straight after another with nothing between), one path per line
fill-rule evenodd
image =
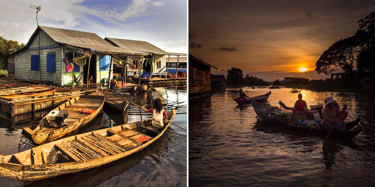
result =
M189 98L211 94L211 64L189 55Z

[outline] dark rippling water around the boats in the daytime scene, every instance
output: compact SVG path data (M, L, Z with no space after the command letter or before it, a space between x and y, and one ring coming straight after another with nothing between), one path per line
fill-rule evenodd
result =
M161 98L166 112L176 108L173 122L186 128L187 91L185 87L155 88L156 92L127 92L120 93L129 102L134 102L151 108L151 102L155 98ZM48 111L47 111L48 112ZM124 114L104 111L92 122L79 129L77 134L95 131L99 128L108 128L123 122L135 122L141 119L150 119L151 114L140 111L138 107L129 103ZM46 113L46 112L44 112ZM43 116L43 112L34 114L31 124L37 124L37 120ZM30 116L24 123L30 122ZM29 120L29 121L27 121ZM18 143L22 137L22 127L15 121L0 122L0 154L8 155L17 153ZM30 124L28 124L30 125ZM32 143L23 138L20 151L32 148ZM187 169L187 132L170 125L166 133L156 142L138 153L132 154L116 162L100 166L98 168L62 175L32 183L20 183L0 178L0 186L186 186Z

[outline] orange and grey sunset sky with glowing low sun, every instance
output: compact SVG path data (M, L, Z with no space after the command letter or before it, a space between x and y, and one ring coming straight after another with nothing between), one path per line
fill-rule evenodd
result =
M353 36L374 0L189 0L189 54L226 74L241 68L265 80L317 74L330 45ZM300 68L306 68L302 73Z

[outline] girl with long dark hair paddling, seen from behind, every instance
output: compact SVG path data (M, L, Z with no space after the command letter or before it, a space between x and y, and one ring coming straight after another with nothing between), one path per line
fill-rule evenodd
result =
M163 122L163 120L167 119L168 116L163 109L162 100L160 98L156 98L154 100L154 105L152 108L150 108L150 110L147 110L144 107L141 108L145 112L152 113L151 122L149 122L148 125L158 128L162 128L164 125L166 125L166 122Z

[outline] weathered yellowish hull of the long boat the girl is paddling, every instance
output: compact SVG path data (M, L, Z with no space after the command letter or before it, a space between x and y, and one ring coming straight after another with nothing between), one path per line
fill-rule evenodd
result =
M171 112L168 113L168 119L172 120L174 115L175 115L175 110L173 109ZM26 151L16 153L13 155L7 155L7 156L0 155L0 177L7 178L9 180L14 180L14 181L36 181L36 180L41 180L45 178L56 177L59 175L83 171L83 170L90 169L90 168L95 168L95 167L113 162L115 160L122 159L126 156L129 156L130 154L143 150L145 147L152 144L154 141L158 140L164 134L164 132L169 126L169 123L167 123L160 130L160 133L154 136L152 139L123 153L118 153L118 154L114 154L114 155L107 156L107 157L101 157L97 159L91 159L91 160L80 161L80 162L55 163L55 164L49 163L58 159L56 157L58 157L57 153L59 153L59 150L55 148L56 144L61 144L62 142L72 141L72 140L90 135L92 133L106 136L109 130L119 132L123 129L135 129L136 124L138 123L134 122L134 123L124 124L120 126L115 126L115 127L108 128L108 129L101 129L98 131L87 132L84 134L76 135L74 137L68 137L68 138L63 138L61 140L57 140L54 142L49 142L47 144L34 147L31 150L26 150ZM44 154L48 154L48 156L46 156L45 159L43 159L43 152ZM9 163L9 161L7 162L3 161L3 160L19 159L20 157L28 158L28 156L30 156L30 160L24 160L23 162L32 162L32 160L34 160L33 162L35 162L35 160L37 160L35 157L40 156L42 157L42 158L39 157L39 159L42 159L42 161L40 161L41 164L22 165L22 164L16 164L16 163ZM47 164L43 164L43 162L46 162Z

